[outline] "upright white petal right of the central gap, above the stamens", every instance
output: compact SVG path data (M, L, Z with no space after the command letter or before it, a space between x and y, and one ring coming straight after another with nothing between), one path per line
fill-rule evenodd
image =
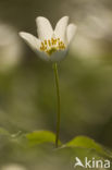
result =
M64 16L59 20L55 25L54 34L58 38L61 38L63 42L66 42L66 27L69 23L69 16Z

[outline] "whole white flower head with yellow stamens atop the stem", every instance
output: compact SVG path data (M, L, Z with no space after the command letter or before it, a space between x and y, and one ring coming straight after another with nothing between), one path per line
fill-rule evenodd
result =
M38 57L46 61L62 60L72 41L76 25L69 23L69 16L64 16L55 25L53 31L50 22L42 16L36 19L38 38L35 36L21 32L20 36L36 51Z

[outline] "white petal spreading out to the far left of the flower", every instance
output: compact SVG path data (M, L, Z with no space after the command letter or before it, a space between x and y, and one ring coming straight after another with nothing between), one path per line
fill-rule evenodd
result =
M38 38L25 32L21 32L20 36L38 54L40 59L49 61L49 57L45 52L39 50L41 41Z

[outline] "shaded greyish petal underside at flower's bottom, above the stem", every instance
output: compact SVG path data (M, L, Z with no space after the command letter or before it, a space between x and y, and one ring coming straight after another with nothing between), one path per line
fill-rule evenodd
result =
M67 48L65 50L59 50L51 54L50 61L58 62L63 60L66 57Z

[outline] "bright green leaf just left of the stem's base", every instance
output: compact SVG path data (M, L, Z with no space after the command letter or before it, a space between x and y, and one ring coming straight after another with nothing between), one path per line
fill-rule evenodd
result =
M50 131L35 131L33 133L26 134L30 145L38 145L43 143L55 143L55 134ZM61 144L61 142L59 142Z

